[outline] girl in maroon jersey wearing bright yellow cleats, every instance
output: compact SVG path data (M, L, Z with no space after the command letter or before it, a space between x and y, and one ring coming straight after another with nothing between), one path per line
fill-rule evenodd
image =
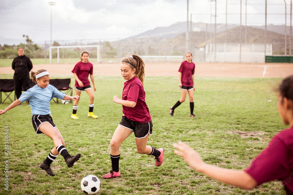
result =
M92 118L98 118L98 116L93 114L93 106L94 104L94 98L95 96L93 95L93 91L96 91L96 85L95 85L95 80L93 78L93 64L88 61L89 54L87 51L83 51L81 53L81 57L79 58L81 61L76 63L74 66L73 70L71 71L73 73L73 76L75 78L75 84L74 84L74 89L75 89L75 95L80 96L82 91L86 91L88 93L88 96L90 98L89 101L89 110L88 110L88 117ZM91 88L91 83L88 80L88 75L91 77L91 81L93 83L93 89ZM71 118L74 119L79 119L79 117L76 115L76 111L78 108L78 102L74 101L73 103L73 111Z

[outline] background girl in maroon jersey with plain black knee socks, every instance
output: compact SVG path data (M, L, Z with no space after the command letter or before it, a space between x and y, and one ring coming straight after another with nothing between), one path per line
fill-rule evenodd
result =
M174 106L170 108L170 115L173 116L175 108L177 108L186 99L186 92L189 96L189 106L190 106L190 117L196 117L193 114L194 103L193 103L193 91L194 87L194 70L195 64L192 62L192 54L190 51L185 53L186 61L181 63L178 70L179 72L179 87L181 89L181 99L178 100Z

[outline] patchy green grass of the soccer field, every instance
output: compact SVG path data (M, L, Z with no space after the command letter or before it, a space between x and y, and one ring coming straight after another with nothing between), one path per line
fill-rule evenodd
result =
M122 116L122 106L112 99L114 95L121 98L124 82L121 77L95 76L94 113L98 119L87 117L89 99L85 92L79 101L79 120L70 118L72 104L52 101L53 120L66 148L72 155L78 152L82 155L73 168L67 168L64 159L58 156L51 165L54 177L39 168L53 141L35 134L30 107L23 103L0 116L1 178L5 176L6 125L10 157L9 191L4 190L4 180L1 180L0 194L84 194L80 181L89 174L100 178L99 194L285 194L279 181L243 190L213 180L192 170L172 147L181 140L200 153L206 163L237 170L247 168L270 139L286 128L277 112L277 95L273 91L280 80L196 77L194 113L197 118L190 118L188 97L176 108L173 117L169 114L169 108L180 99L177 77L146 77L146 101L154 125L148 144L165 149L164 162L156 167L153 157L138 154L132 134L120 148L122 175L110 180L100 176L111 169L110 140ZM0 109L8 105L5 102ZM249 136L241 137L239 132Z

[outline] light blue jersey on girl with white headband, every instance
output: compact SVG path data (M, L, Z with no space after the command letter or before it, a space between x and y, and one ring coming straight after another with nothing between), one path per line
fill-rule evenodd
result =
M50 114L50 101L53 98L63 99L64 92L59 92L52 85L48 85L46 88L39 87L37 84L21 94L19 101L30 101L30 107L33 115L47 115Z

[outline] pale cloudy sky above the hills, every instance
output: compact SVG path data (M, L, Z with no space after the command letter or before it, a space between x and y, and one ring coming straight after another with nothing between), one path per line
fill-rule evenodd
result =
M49 1L56 2L54 6ZM226 0L217 1L217 23L225 23ZM227 22L240 24L240 1L228 0ZM267 24L285 24L284 0L267 0ZM287 25L290 25L290 0ZM245 6L247 3L247 7ZM29 35L35 43L52 40L127 38L156 27L166 27L187 20L187 0L1 0L0 37L22 39ZM248 25L264 25L265 0L242 0L242 24L247 10ZM194 23L211 22L215 1L189 0ZM214 17L212 17L214 23Z

